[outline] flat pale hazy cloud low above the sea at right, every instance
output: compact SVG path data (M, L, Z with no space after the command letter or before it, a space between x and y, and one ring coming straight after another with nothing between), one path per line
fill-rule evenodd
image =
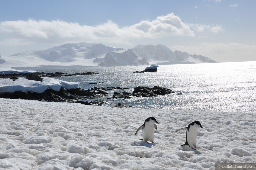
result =
M172 51L186 51L209 57L216 62L256 61L256 45L242 43L199 43L192 46L172 46Z

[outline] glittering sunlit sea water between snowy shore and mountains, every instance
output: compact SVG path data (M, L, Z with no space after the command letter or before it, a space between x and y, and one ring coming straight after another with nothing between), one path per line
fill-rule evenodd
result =
M95 87L123 87L125 90L107 91L104 99L114 100L137 108L168 110L199 110L222 112L256 112L256 62L200 63L159 65L157 72L133 73L146 66L70 68L38 70L45 73L68 74L95 72L99 75L76 75L54 77L78 82L82 89ZM89 84L97 83L97 84ZM132 92L134 87L165 87L174 91L158 97L134 97L112 99L114 91ZM181 93L181 95L179 95ZM107 97L111 99L107 99ZM109 106L106 104L106 106Z

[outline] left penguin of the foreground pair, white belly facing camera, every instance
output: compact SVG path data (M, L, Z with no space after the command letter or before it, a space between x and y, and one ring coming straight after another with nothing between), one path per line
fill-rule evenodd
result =
M152 144L154 143L154 129L157 129L157 125L155 123L158 123L157 120L154 117L149 117L145 120L144 124L139 127L139 129L136 131L135 135L139 132L140 129L142 129L142 137L145 142L150 141ZM149 143L149 142L147 142Z

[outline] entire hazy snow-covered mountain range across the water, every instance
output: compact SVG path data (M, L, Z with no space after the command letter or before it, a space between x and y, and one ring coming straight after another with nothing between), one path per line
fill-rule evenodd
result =
M0 56L0 66L24 69L112 67L126 65L212 63L202 55L172 52L164 45L138 45L132 49L114 48L100 43L67 43L9 57Z

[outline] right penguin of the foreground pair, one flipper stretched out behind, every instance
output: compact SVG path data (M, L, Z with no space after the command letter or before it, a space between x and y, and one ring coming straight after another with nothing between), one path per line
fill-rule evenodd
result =
M178 132L180 130L187 130L186 142L185 142L185 144L180 145L180 146L187 145L187 146L191 147L194 150L197 150L197 148L199 148L199 147L196 147L196 144L197 144L197 129L198 129L198 127L203 128L202 125L200 124L200 122L195 121L195 122L190 123L188 125L188 127L184 127L184 128L181 128L181 129L175 131L175 132Z

